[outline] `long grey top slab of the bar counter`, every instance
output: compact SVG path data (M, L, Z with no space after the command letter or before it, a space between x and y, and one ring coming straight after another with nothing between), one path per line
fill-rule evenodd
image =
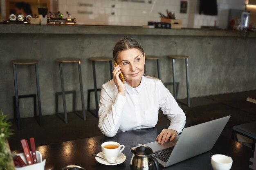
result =
M147 29L139 26L88 26L88 25L0 25L0 33L28 34L105 34L105 35L168 35L256 37L256 32L225 29Z

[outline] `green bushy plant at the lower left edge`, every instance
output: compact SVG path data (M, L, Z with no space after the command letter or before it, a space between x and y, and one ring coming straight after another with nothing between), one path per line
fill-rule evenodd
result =
M11 123L0 110L0 170L14 170L11 150L7 139L12 135Z

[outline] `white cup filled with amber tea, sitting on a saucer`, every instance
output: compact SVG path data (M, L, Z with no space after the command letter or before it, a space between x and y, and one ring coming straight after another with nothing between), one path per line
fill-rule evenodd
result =
M113 163L116 161L117 156L124 150L124 145L120 145L114 141L108 141L101 144L101 151L108 162Z

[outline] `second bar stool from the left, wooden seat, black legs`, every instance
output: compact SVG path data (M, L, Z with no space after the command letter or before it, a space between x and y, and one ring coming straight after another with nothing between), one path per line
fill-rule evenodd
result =
M66 107L66 98L65 94L73 94L73 113L81 117L83 120L86 120L85 116L85 107L84 107L84 96L83 96L83 81L82 81L82 73L81 73L81 59L79 58L59 58L56 59L56 61L59 63L60 67L60 74L61 74L61 92L55 93L56 97L56 115L60 117L65 124L68 123L67 121L67 107ZM62 64L63 63L77 63L78 66L78 73L79 73L79 83L80 83L80 92L81 92L81 102L82 102L82 110L83 110L83 116L81 116L76 110L76 91L65 91L64 87L64 78L63 78L63 70L62 70ZM62 95L63 99L63 110L64 110L64 118L58 113L58 95Z

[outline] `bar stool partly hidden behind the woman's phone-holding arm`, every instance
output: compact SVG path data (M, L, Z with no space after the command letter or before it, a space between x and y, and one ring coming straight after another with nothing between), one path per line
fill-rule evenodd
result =
M94 115L95 117L99 118L99 105L98 105L98 95L97 95L97 91L101 91L101 88L97 88L97 82L96 82L96 71L95 71L95 62L109 62L109 66L110 66L110 79L113 78L112 76L112 58L110 57L90 57L89 58L90 61L92 61L92 72L93 72L93 83L94 83L94 89L88 89L88 100L87 100L87 108L88 111L90 113L92 113L92 115ZM96 110L91 110L90 109L90 93L94 91L94 95L95 95L95 106L96 106Z

